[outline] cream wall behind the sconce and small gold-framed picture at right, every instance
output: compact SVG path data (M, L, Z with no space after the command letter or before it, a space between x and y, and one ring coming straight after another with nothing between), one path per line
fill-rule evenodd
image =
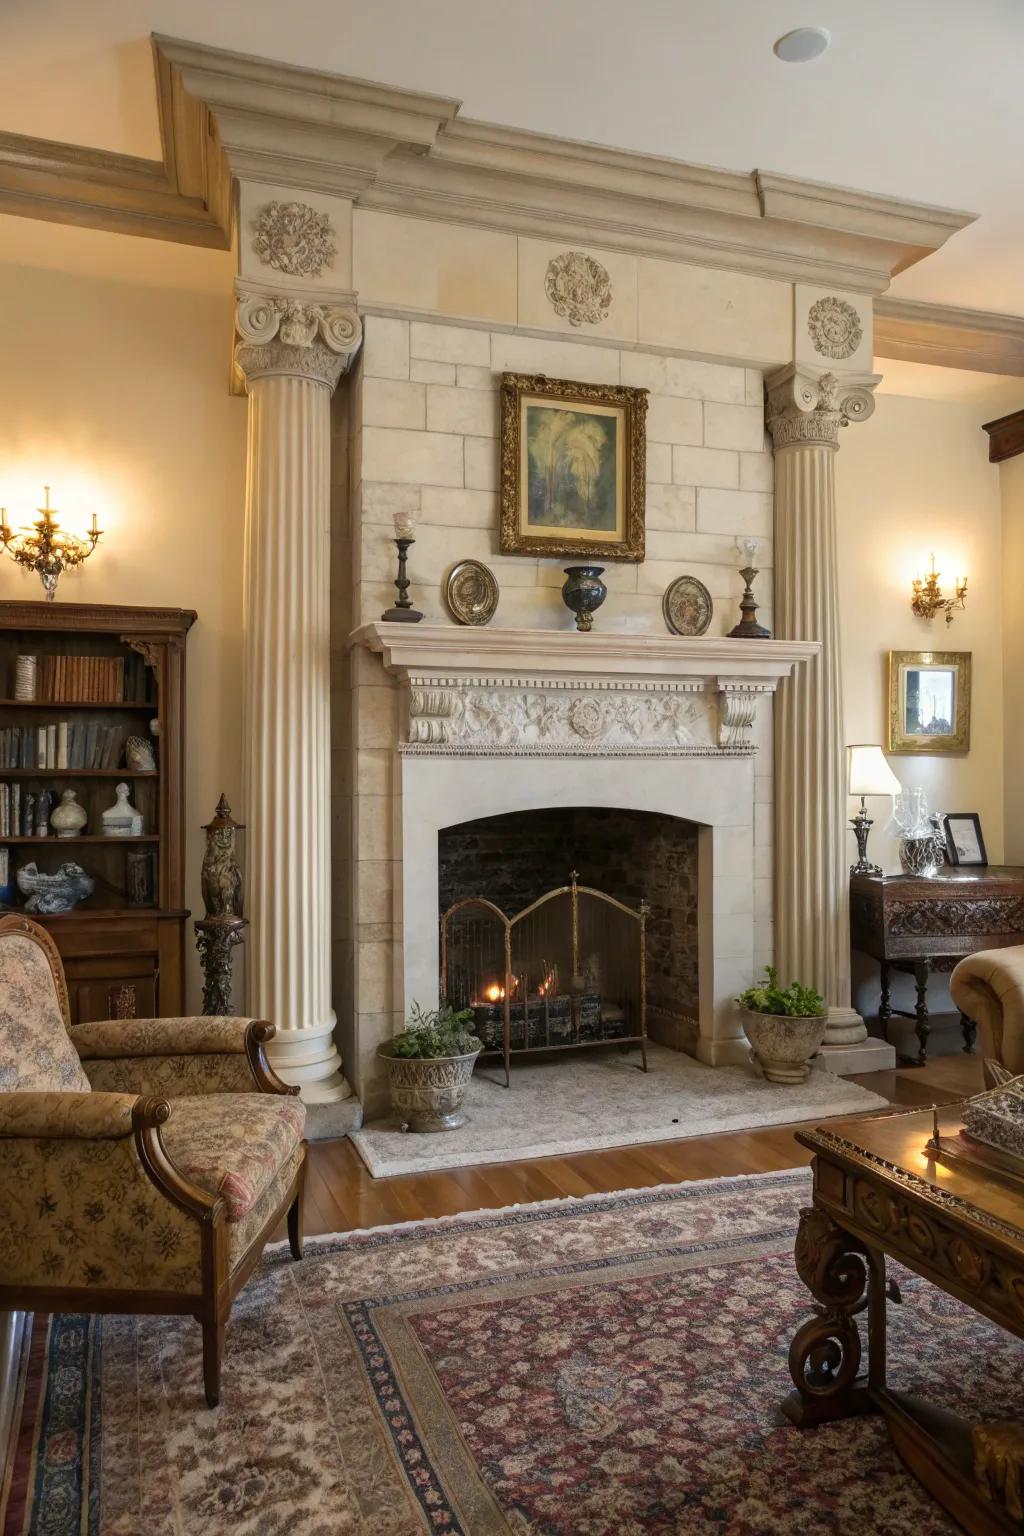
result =
M979 811L989 857L1003 857L1003 556L999 478L976 406L881 393L875 415L849 427L837 459L843 687L847 742L886 745L890 650L970 651L970 751L889 759L932 811ZM935 550L944 582L967 571L967 608L952 625L910 613L910 581ZM898 871L895 840L877 817L870 854ZM854 839L851 859L857 857Z

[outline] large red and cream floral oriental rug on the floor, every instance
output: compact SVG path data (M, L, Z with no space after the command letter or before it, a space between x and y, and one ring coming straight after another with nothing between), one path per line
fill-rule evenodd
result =
M953 1536L884 1424L778 1412L804 1170L269 1255L221 1407L173 1318L37 1327L5 1536ZM903 1272L890 1379L1019 1412L1024 1349Z

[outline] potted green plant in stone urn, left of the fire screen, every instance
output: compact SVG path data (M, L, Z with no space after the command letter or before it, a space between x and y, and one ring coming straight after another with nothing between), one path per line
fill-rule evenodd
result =
M456 1130L465 1124L462 1100L484 1043L470 1008L421 1008L378 1049L387 1063L391 1106L408 1130Z

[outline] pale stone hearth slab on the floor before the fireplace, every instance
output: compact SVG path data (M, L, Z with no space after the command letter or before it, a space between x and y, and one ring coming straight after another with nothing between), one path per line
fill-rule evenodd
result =
M682 1051L580 1051L562 1057L513 1057L511 1087L493 1058L477 1064L467 1095L468 1123L431 1135L401 1130L395 1120L352 1132L375 1178L565 1157L642 1141L676 1141L720 1130L752 1130L886 1109L887 1100L815 1066L806 1083L768 1083L745 1066L703 1066Z

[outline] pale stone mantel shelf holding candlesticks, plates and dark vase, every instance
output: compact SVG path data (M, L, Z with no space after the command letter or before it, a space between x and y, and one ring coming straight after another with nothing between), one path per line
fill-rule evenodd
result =
M405 680L444 674L459 679L586 679L620 684L717 684L774 688L795 665L821 650L818 641L731 641L674 634L577 634L574 630L470 628L450 624L364 624L350 645L376 651L387 671Z

